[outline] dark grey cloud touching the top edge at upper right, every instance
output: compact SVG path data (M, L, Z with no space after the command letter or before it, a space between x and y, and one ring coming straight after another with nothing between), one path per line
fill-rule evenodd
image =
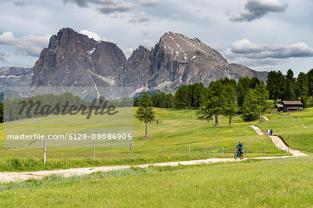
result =
M263 17L268 12L284 12L287 7L286 1L248 0L244 10L230 17L230 21L253 21Z

